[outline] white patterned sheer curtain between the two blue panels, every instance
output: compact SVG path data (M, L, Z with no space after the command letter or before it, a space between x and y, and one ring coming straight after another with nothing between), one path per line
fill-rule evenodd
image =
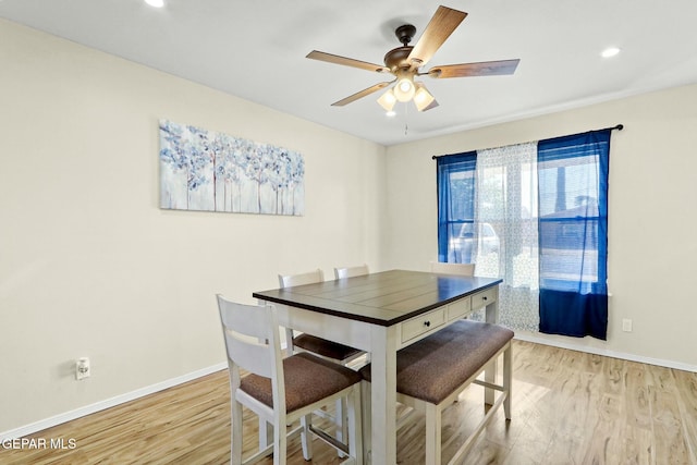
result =
M477 150L476 276L503 279L500 321L539 329L537 143Z

